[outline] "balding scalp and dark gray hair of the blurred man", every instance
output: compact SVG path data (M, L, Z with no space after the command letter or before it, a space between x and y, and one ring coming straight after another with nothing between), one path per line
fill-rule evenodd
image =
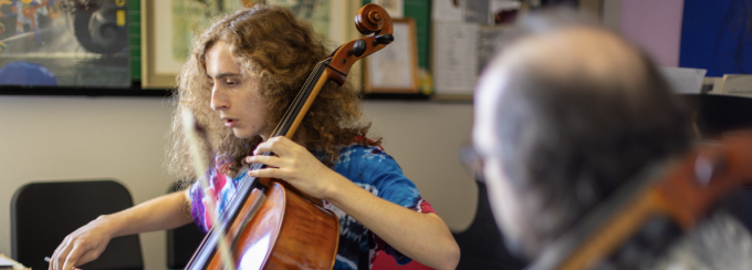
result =
M508 79L495 152L524 194L519 248L533 257L641 169L683 153L691 125L652 61L616 34L571 11L520 27L483 76Z

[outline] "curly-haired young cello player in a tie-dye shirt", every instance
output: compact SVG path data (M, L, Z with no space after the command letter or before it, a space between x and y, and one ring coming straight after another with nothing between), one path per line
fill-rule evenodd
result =
M213 198L192 184L121 212L104 215L69 235L50 269L70 270L97 258L109 239L196 222L212 225L207 202L220 210L244 175L279 178L325 201L341 224L334 269L370 269L377 252L398 263L416 260L455 269L459 248L449 229L397 163L367 138L357 95L328 82L293 139L270 137L313 66L328 52L323 39L286 9L255 6L219 19L196 41L178 77L169 169L195 178L181 133L191 110L216 145L207 172ZM278 156L255 156L273 152ZM248 170L249 163L270 168Z

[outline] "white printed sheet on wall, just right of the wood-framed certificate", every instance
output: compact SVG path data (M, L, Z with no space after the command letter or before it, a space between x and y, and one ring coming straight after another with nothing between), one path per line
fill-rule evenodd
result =
M436 94L472 94L478 80L478 24L434 22Z

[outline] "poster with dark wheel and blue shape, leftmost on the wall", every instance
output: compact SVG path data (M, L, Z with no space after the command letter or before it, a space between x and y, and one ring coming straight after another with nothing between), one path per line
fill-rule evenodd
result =
M0 85L130 87L126 0L0 0Z

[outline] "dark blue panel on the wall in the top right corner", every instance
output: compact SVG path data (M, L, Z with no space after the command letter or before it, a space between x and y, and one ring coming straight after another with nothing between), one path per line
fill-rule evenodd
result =
M685 0L679 66L752 74L752 1Z

